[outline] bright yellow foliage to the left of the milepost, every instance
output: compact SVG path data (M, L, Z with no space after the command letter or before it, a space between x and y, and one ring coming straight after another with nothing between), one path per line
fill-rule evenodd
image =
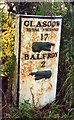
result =
M14 20L8 14L2 14L2 57L12 56L14 52Z

